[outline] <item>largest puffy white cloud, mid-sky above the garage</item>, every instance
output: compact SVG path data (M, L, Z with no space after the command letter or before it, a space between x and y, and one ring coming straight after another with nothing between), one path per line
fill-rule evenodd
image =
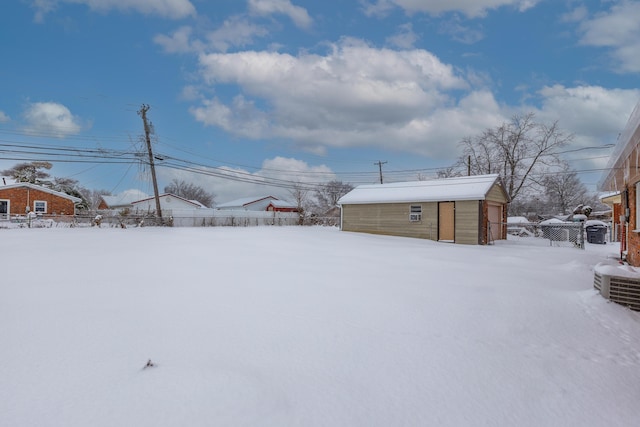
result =
M394 144L431 153L444 142L429 138L431 117L457 108L448 91L468 88L425 50L376 49L353 39L324 56L249 51L201 55L200 64L205 82L237 85L242 95L228 104L203 101L191 109L198 121L254 139L285 138L316 153Z

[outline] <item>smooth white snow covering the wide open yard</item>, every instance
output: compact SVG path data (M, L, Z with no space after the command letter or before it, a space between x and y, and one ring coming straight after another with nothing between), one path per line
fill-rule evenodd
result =
M640 425L640 314L592 288L615 244L320 227L0 239L3 426Z

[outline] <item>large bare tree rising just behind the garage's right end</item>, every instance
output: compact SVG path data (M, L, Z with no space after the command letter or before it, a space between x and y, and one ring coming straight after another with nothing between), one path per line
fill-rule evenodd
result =
M516 199L535 173L560 162L556 150L573 139L557 121L547 125L534 119L533 113L516 115L508 123L464 138L459 163L472 175L500 174L509 197Z

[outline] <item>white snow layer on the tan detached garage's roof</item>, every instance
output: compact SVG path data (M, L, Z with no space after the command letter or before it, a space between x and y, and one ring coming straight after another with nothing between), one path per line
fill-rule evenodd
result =
M338 204L436 202L484 200L499 175L476 175L430 181L359 185L338 200Z

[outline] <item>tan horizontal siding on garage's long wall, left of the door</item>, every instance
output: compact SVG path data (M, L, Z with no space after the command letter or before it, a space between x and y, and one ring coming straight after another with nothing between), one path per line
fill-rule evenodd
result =
M422 206L422 221L409 221L411 205ZM344 205L342 230L435 240L436 203L379 203Z

